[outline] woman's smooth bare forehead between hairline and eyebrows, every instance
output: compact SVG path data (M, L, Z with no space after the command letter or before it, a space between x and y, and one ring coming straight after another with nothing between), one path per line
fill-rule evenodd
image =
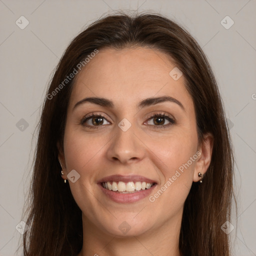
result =
M77 74L69 105L88 96L105 97L116 107L134 105L143 98L169 95L191 108L184 77L174 80L170 57L152 48L104 48Z

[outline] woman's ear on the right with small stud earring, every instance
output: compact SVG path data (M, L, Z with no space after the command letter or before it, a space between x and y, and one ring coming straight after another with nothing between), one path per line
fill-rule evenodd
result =
M193 173L194 182L197 182L201 179L201 177L198 177L198 172L201 172L202 174L204 174L207 171L207 168L210 165L212 147L213 147L212 134L211 133L204 134L201 145L198 148L200 155L194 167L194 173Z

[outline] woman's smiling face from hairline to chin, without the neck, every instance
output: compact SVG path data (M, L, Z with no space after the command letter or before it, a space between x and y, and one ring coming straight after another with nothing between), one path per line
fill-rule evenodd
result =
M181 220L201 169L192 98L174 67L156 49L105 48L77 74L59 158L91 231L139 235Z

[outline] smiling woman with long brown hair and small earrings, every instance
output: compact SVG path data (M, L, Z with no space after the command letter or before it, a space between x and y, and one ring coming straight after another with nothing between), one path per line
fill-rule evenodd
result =
M71 41L49 85L24 255L230 255L232 175L196 41L159 14L108 15Z

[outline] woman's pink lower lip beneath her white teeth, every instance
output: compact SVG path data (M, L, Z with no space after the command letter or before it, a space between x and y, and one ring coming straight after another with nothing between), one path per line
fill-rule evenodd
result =
M128 203L128 202L136 202L138 200L141 200L143 198L145 198L146 196L148 196L152 190L154 189L154 187L156 186L156 184L152 185L150 188L148 189L141 189L137 192L133 192L133 193L119 193L119 192L115 192L112 190L108 190L106 188L104 188L101 183L98 183L100 189L102 190L102 192L110 199L112 199L115 202L119 202L119 203Z

